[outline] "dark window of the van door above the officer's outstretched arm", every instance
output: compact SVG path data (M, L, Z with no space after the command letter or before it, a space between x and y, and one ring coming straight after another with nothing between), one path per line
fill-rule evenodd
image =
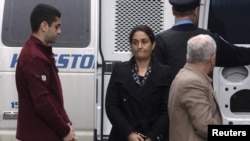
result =
M234 44L250 44L250 1L210 0L208 29Z

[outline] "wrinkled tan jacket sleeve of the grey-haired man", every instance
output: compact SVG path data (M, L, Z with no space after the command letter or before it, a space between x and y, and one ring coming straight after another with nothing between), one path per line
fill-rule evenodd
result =
M207 139L208 125L221 124L220 119L215 116L219 113L219 109L215 106L216 101L209 96L212 95L211 90L201 81L194 80L187 83L182 92L185 94L181 96L180 101L188 113L194 131L200 137Z

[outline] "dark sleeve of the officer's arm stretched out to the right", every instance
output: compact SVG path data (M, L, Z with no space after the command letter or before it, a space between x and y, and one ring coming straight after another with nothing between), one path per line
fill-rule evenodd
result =
M216 66L236 67L250 64L250 48L233 45L217 33L212 33L212 36L217 44Z

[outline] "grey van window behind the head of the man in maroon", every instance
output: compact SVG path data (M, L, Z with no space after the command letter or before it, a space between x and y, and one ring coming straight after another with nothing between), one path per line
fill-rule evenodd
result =
M31 34L30 13L38 3L58 8L62 14L61 30L53 47L87 47L90 42L90 0L5 0L2 42L20 47Z

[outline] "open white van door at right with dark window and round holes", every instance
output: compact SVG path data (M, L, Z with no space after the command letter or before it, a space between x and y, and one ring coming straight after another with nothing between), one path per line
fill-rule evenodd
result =
M212 29L238 46L250 47L249 0L209 0L202 27ZM250 66L214 69L214 89L223 124L250 124Z

